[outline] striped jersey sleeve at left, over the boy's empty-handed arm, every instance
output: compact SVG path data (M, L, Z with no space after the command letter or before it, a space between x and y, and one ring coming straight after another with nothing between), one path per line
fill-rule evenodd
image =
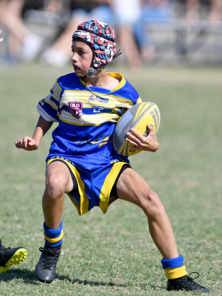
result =
M62 89L57 80L50 90L50 94L38 102L37 111L46 121L59 121L58 106L61 92Z

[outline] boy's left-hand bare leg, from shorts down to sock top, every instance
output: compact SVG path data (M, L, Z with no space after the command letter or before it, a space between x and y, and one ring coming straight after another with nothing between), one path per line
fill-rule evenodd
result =
M46 226L58 229L62 217L64 194L72 191L73 181L69 169L61 161L54 161L46 168L46 189L42 209Z

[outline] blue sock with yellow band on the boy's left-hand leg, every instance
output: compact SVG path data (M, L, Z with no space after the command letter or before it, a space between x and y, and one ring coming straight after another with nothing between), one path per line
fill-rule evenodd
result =
M45 243L49 247L58 247L62 244L63 230L62 221L58 229L49 229L46 223L43 223Z

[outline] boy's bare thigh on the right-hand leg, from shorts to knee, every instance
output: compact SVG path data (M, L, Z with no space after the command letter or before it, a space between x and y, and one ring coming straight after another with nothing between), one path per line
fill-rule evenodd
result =
M141 206L147 198L149 188L147 182L131 168L126 168L117 181L116 190L118 197Z

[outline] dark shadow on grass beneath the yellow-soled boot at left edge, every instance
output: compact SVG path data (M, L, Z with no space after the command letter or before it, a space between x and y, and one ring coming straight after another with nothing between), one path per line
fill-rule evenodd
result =
M34 270L29 269L13 269L12 267L0 274L0 281L12 281L13 279L21 279L26 284L37 285L38 281L36 280Z

